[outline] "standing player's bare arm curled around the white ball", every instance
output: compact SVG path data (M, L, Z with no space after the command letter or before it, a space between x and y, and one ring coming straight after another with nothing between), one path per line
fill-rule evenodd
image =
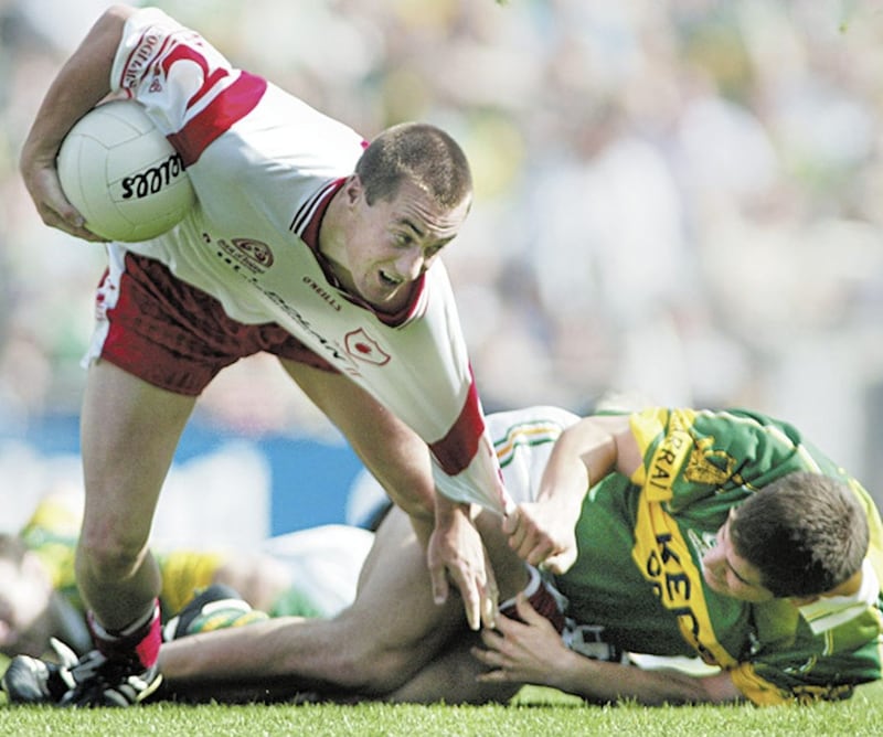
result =
M84 220L58 182L55 156L73 125L110 92L110 68L132 8L108 9L50 85L22 148L24 185L46 225L86 241L104 241L83 227Z

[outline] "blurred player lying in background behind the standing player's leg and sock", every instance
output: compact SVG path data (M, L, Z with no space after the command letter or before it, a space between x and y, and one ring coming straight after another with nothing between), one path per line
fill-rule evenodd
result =
M7 656L44 655L51 638L77 655L93 647L74 576L79 514L73 501L46 494L20 533L0 534L0 653ZM162 619L214 584L232 587L270 617L334 616L355 596L373 537L361 527L329 524L248 551L160 548Z

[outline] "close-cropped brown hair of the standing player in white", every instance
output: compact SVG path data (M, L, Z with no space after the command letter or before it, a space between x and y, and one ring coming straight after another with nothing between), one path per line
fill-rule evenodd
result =
M426 122L402 122L384 130L364 150L355 173L369 205L394 197L406 179L449 210L472 192L462 149L444 130Z

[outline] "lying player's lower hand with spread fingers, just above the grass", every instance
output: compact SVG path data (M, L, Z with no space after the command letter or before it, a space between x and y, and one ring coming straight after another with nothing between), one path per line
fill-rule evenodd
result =
M523 592L515 607L523 621L499 615L496 630L481 631L485 649L472 648L472 655L491 669L478 675L478 681L553 685L556 672L573 653Z

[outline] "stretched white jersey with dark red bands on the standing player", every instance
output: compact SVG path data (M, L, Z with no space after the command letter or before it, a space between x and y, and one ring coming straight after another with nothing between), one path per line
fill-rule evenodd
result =
M167 135L196 192L172 231L110 249L162 261L234 320L278 323L428 444L442 493L509 509L443 265L394 317L353 301L322 268L321 216L363 138L156 9L128 20L110 82Z

